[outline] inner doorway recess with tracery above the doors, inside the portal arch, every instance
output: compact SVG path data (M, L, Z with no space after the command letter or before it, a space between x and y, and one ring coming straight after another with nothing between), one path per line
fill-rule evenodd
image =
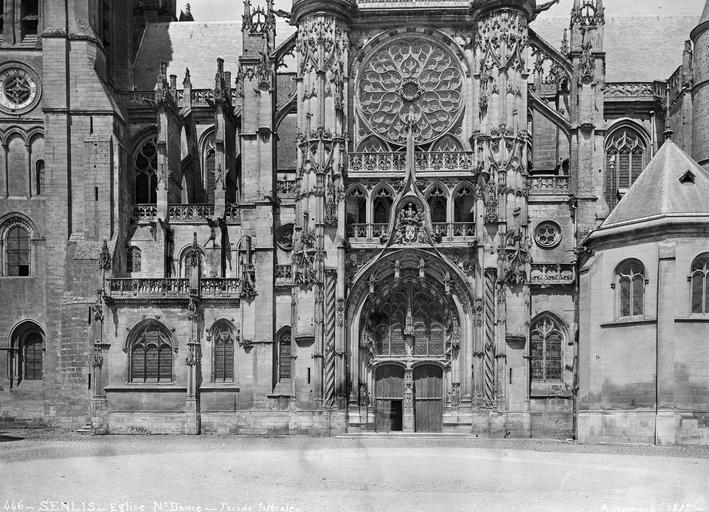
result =
M401 277L367 315L378 432L443 429L444 367L457 319L446 298L415 277Z

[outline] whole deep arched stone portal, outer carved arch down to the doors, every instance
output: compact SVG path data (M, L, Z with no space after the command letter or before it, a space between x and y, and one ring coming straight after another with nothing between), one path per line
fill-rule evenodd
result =
M470 392L471 289L420 249L392 251L368 270L350 293L350 423L440 432L445 411Z

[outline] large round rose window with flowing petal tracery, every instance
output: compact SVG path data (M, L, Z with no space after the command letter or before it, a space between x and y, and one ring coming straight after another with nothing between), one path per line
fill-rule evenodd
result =
M372 131L405 144L409 116L416 143L453 127L463 106L463 73L447 48L421 38L401 38L374 52L359 80L359 106Z

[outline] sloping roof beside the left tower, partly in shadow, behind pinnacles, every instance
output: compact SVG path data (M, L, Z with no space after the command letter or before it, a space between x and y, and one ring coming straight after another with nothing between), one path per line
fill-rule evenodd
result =
M277 28L277 44L294 30L285 23L279 23ZM210 89L214 87L218 57L224 59L224 71L231 71L236 77L241 48L241 22L150 23L135 58L135 88L152 90L160 61L164 60L168 75L177 75L178 88L182 88L185 68L189 68L192 87Z

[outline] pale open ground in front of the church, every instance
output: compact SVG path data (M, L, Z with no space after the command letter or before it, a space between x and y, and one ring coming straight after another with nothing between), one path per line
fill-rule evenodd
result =
M0 512L709 512L704 447L445 435L3 440Z

